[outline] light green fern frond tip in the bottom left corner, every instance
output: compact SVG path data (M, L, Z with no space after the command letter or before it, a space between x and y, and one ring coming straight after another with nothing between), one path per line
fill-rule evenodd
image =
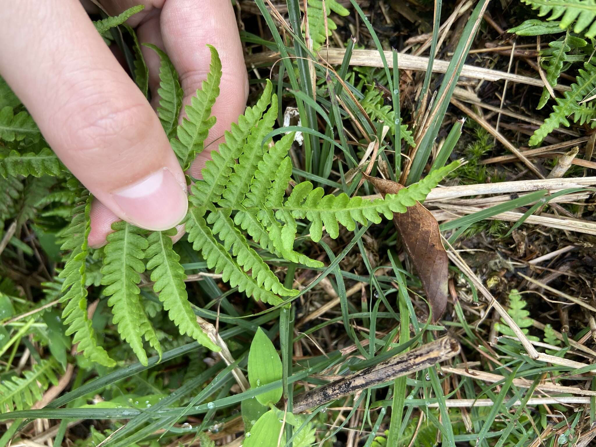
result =
M58 384L56 371L59 369L54 359L42 360L23 371L23 377L15 375L0 383L0 413L30 408L41 401L49 384Z

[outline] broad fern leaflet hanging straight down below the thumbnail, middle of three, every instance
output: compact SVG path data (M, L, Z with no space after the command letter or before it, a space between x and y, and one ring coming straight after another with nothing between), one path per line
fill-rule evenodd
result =
M145 271L143 259L148 243L142 235L147 231L128 222L116 222L111 228L114 232L108 235L108 244L104 248L101 284L107 285L104 295L110 297L108 306L112 308L120 336L131 345L139 362L147 365L143 335L147 341L156 343L154 347L160 355L162 352L153 325L141 305L141 290L137 285L141 282L140 274Z

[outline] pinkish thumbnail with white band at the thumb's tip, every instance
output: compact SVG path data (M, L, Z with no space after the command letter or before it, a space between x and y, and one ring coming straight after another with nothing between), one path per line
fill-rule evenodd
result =
M153 231L178 225L188 209L185 189L166 168L112 193L112 197L126 221Z

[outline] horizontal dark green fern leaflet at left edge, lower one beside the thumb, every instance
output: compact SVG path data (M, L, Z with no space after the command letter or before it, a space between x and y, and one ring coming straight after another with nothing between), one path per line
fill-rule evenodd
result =
M49 148L43 148L38 154L29 152L19 154L12 150L4 158L0 158L0 175L7 176L32 175L41 177L42 175L60 175L66 168L60 162L56 154Z

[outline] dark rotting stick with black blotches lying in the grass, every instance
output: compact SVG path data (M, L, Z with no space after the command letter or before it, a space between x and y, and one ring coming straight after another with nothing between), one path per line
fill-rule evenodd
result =
M322 387L302 393L294 398L293 412L300 413L315 406L324 405L344 396L389 382L402 375L430 368L446 361L460 352L460 344L451 337L443 337L432 343L395 356L358 373L347 375Z

